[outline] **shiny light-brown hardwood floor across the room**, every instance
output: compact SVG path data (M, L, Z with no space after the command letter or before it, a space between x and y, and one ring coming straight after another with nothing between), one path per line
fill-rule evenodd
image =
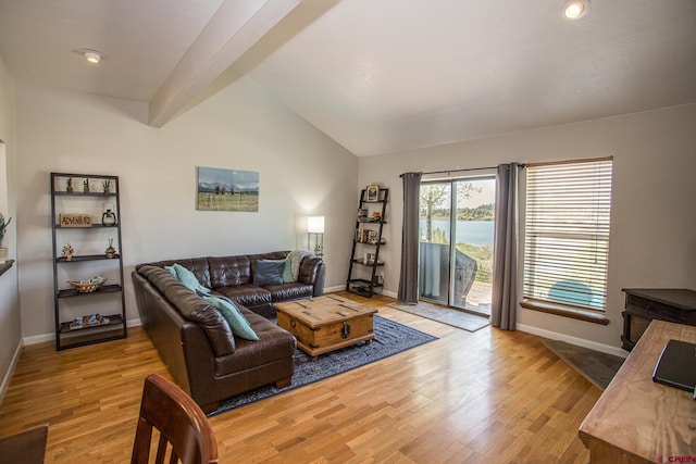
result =
M341 293L344 294L344 293ZM468 333L371 300L439 340L210 419L221 463L586 463L600 391L535 336ZM171 379L145 331L57 352L25 347L0 436L49 425L46 463L129 462L142 380Z

